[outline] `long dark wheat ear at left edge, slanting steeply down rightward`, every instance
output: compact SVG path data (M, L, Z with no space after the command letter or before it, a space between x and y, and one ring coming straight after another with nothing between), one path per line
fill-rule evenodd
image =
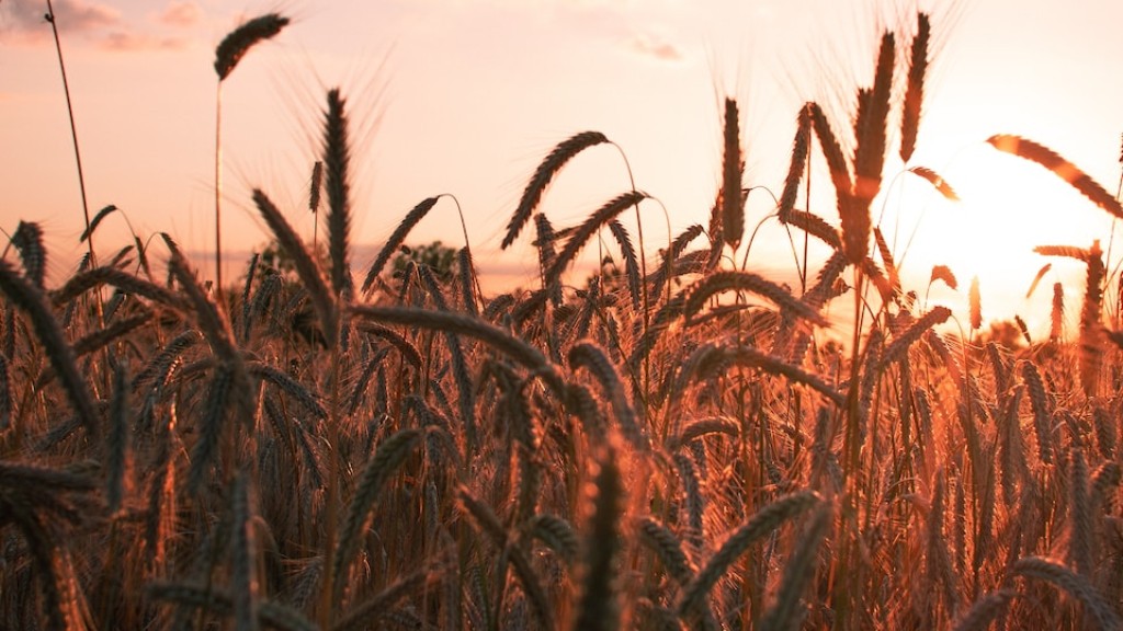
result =
M57 373L75 414L91 438L100 436L93 397L77 369L74 350L66 344L62 327L51 312L43 292L20 276L7 260L0 260L0 292L8 296L11 304L28 314L35 335L46 349L51 367Z

